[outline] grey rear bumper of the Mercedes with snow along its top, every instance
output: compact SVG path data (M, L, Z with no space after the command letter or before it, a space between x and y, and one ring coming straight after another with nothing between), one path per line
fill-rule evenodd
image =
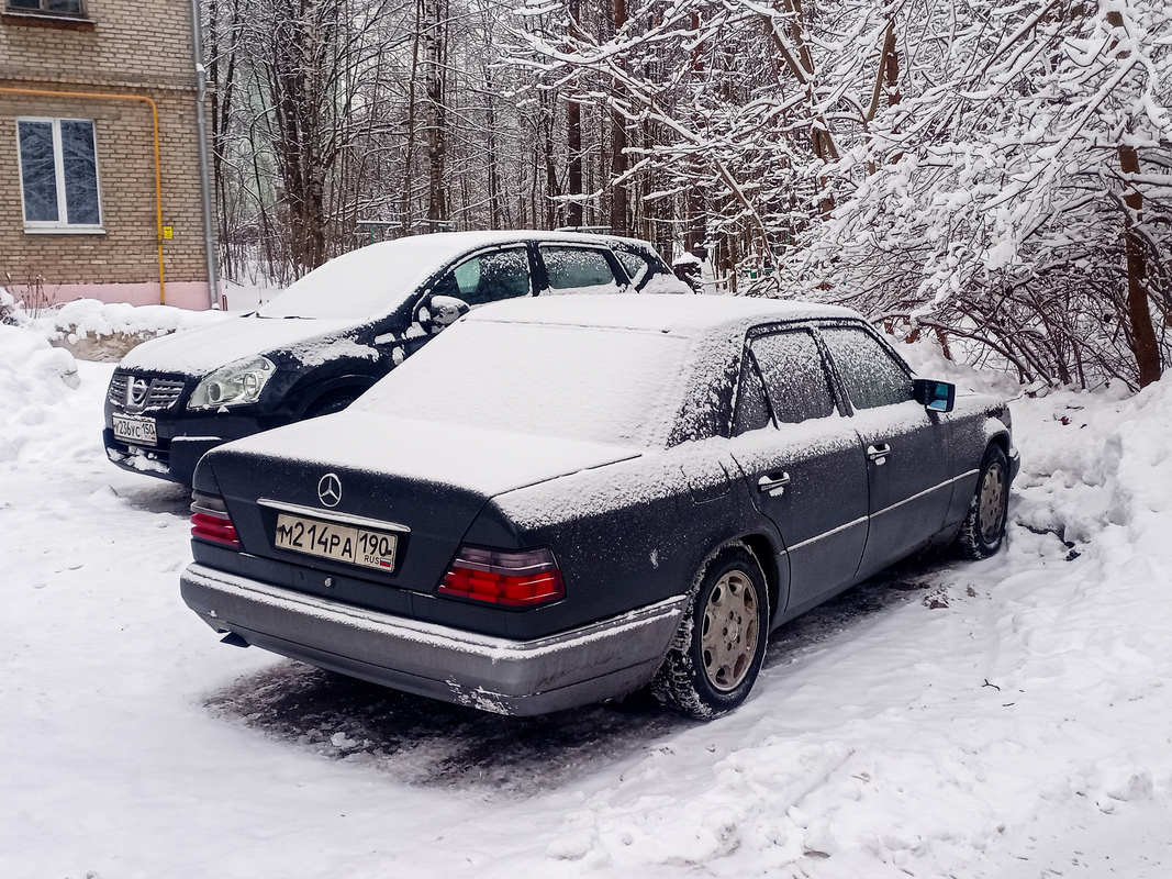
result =
M407 620L191 565L183 600L217 632L421 696L536 715L624 696L655 675L687 595L581 628L511 641ZM339 650L343 652L339 652Z

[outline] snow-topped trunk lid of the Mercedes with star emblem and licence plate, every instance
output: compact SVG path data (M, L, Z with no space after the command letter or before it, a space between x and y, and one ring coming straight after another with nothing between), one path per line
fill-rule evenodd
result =
M348 578L357 602L381 606L369 586L350 580L430 594L489 498L638 455L624 445L348 411L213 450L196 491L219 496L226 486L247 556L311 568L316 573L300 578L308 591L329 588L335 574Z

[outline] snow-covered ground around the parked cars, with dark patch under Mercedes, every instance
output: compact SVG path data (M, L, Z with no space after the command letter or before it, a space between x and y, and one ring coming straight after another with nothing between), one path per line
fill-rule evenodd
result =
M1170 387L1017 400L1007 548L785 627L700 724L220 645L188 498L104 458L111 368L0 326L5 879L1172 873Z

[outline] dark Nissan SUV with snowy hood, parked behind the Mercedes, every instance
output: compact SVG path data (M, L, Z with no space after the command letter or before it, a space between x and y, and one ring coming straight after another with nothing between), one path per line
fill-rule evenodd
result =
M370 245L253 314L131 350L107 394L107 456L190 484L209 449L345 409L470 307L635 291L690 292L631 238L445 232Z

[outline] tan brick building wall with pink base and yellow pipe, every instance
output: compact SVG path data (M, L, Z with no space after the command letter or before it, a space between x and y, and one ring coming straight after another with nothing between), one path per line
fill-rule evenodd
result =
M207 307L189 0L88 0L80 16L14 6L0 0L0 286L42 301L159 301L154 121L151 104L138 100L145 97L158 111L163 225L172 230L163 240L165 299ZM26 227L16 124L26 117L94 122L98 233Z

